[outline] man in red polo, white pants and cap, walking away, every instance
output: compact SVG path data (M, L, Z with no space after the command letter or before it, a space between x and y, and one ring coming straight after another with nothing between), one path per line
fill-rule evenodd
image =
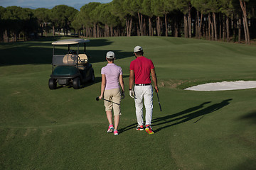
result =
M153 88L151 86L151 79L154 82L154 89L158 93L156 72L154 64L151 60L144 57L142 47L134 47L134 55L136 57L130 64L129 74L129 95L134 98L136 116L137 116L137 130L144 130L143 127L143 99L146 108L146 132L154 134L151 128L151 120L153 114ZM134 84L135 83L135 84ZM134 87L133 87L134 85Z

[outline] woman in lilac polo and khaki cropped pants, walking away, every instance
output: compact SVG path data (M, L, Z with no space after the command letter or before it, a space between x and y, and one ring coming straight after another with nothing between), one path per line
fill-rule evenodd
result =
M122 77L122 68L114 64L114 52L107 52L106 59L108 62L107 66L101 69L102 85L99 98L102 99L104 96L104 98L108 100L104 102L107 120L110 124L107 132L114 132L114 135L118 135L117 128L121 115L120 106L118 104L120 104L121 98L124 98L124 80ZM122 91L120 91L119 84ZM114 126L112 124L112 109L114 111Z

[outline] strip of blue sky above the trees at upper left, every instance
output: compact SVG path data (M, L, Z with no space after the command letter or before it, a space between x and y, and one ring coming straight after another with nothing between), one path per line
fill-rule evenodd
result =
M90 2L109 3L112 0L0 0L0 6L20 6L23 8L53 8L57 5L72 6L76 9Z

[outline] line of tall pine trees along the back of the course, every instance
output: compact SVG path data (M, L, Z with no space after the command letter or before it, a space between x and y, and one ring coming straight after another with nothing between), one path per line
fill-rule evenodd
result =
M80 37L174 36L250 44L256 35L255 0L113 0L80 8L0 6L0 40L47 33Z

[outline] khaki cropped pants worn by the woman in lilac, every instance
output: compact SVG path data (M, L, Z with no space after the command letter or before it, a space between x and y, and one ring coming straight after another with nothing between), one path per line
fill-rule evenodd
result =
M104 91L104 98L108 101L104 101L105 111L114 111L114 115L122 115L120 106L114 103L121 103L120 89L109 89ZM109 101L113 101L109 102Z

